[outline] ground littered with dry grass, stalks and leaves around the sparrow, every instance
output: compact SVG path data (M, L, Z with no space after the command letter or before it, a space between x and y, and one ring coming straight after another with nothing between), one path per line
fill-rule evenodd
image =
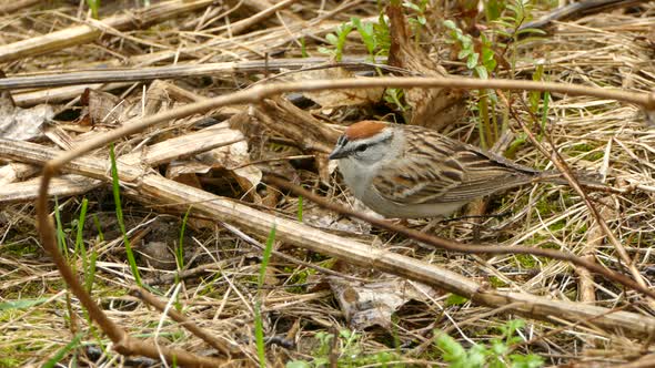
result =
M655 113L635 101L655 86L655 3L541 30L525 24L554 4L480 9L117 0L94 17L83 1L1 2L0 367L648 366L655 301L633 284L655 273ZM355 88L446 73L588 93ZM352 85L306 91L336 80ZM392 219L575 259L435 247L272 177L375 216L328 161L361 120L424 125L540 170L561 170L556 152L596 173L595 190L535 183L446 221ZM63 151L77 153L50 182L50 232L34 201Z

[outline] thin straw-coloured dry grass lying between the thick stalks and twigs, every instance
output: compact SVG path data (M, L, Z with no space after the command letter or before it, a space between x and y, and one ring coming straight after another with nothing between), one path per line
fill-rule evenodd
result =
M298 1L291 8L293 12L284 10L278 17L246 29L241 34L230 34L225 24L248 19L260 10L255 7L256 3L244 1L243 6L233 12L229 11L228 6L208 8L205 12L183 14L150 29L110 32L110 35L97 42L8 61L2 64L2 69L7 74L13 75L49 70L89 69L99 64L137 68L167 65L173 62L261 60L265 54L282 53L284 58L300 58L301 35L304 37L308 51L312 55L320 55L315 49L325 31L331 31L334 25L347 21L354 14L361 18L377 14L374 2L345 2L341 4L344 10L335 11L340 9L335 1ZM321 3L324 4L322 9L319 8ZM103 3L101 11L109 16L118 9L132 6L133 2L115 1ZM77 24L84 18L82 16L77 6L63 2L24 8L2 16L0 44L9 44ZM299 25L299 18L308 22ZM655 85L655 39L652 25L654 23L655 7L652 3L643 4L632 13L616 11L558 23L554 35L520 47L516 78L530 79L535 71L534 60L538 59L545 63L550 81L649 91ZM432 35L426 35L426 39ZM434 39L440 38L434 35ZM349 44L353 47L346 49L346 54L364 53L356 38ZM449 47L443 42L425 44L425 48L434 57L446 58L450 53ZM464 70L458 62L444 62L444 65L447 65L452 73L461 73ZM175 84L195 96L214 96L243 89L254 80L263 79L265 74L264 70L250 75L221 74L211 79L180 80ZM514 75L506 72L500 76ZM21 93L27 92L17 92L17 101L20 100ZM112 90L112 93L139 101L142 84L123 85ZM170 104L171 109L184 102L171 96L161 99L161 102ZM70 101L73 103L67 106L66 103ZM71 113L77 108L70 106L75 103L77 100L69 99L62 104L57 104L56 109ZM521 105L517 104L516 109L527 119ZM349 116L370 117L373 114L363 109L353 110L335 109L316 113L332 122L349 122L352 120ZM214 112L214 116L225 119L234 112L223 109ZM62 124L69 123L66 121L67 115L57 119ZM606 175L607 184L616 187L641 185L641 188L623 195L593 197L595 201L605 201L607 209L603 214L611 229L625 246L637 269L648 279L653 273L651 245L655 239L655 164L651 162L655 157L655 134L645 123L642 112L633 105L614 101L555 95L550 105L548 120L548 134L572 166L598 171ZM171 136L190 133L194 129L193 124L193 120L172 123L174 126L167 130L165 134ZM512 127L518 130L514 125ZM470 112L462 123L447 126L444 132L453 137L475 143L477 134L474 113ZM151 131L132 136L131 140L121 142L117 151L130 153L137 145L148 143L147 140L163 140L162 134L161 131ZM263 151L258 151L261 157L252 159L305 154L298 147L282 144L285 142L283 137L275 135L274 139L278 141L269 141ZM253 146L256 147L258 142L250 143L251 150L254 151ZM531 144L523 144L515 157L517 162L528 166L553 168L548 159ZM330 182L321 185L318 171L308 160L298 160L293 162L294 165L290 165L288 160L273 163L278 164L273 167L295 175L298 182L320 190L332 201L347 205L353 203L347 191L340 186L337 176L330 176ZM224 168L202 176L203 187L213 193L234 197L255 208L273 206L276 208L274 213L280 217L296 217L296 197L280 194L272 187L249 193L243 190L243 183L230 176L229 171ZM343 275L332 277L343 279L346 278L345 275L367 280L386 277L373 269L355 268L341 260L276 243L276 251L302 259L303 263L273 256L266 269L264 286L259 290L261 249L254 247L241 234L212 223L211 218L196 217L192 218L190 228L187 229L185 264L189 268L204 267L203 270L185 278L179 284L181 286L174 284L171 278L158 283L159 278L174 275L170 267L167 270L165 264L168 260L174 266L174 258L170 252L157 248L157 244L153 245L154 255L147 255L143 247L154 242L163 242L172 248L180 236L182 215L179 213L183 213L187 206L150 206L138 201L143 198L131 198L129 192L127 195L123 208L128 217L128 231L133 232L131 236L137 241L142 241L137 242L137 245L144 277L157 284L162 299L179 300L183 314L224 344L232 346L235 351L232 358L234 366L258 364L253 304L260 297L265 306L265 336L276 338L275 343L266 346L266 358L271 365L281 366L292 359L311 360L318 346L318 333L332 334L350 327L330 290L326 275L312 265L330 268L336 275ZM134 280L125 260L122 237L115 225L110 192L105 186L100 186L85 196L90 201L90 209L84 242L89 248L98 252L98 272L92 297L100 303L107 315L124 326L130 334L143 336L144 339L157 340L159 344L199 355L214 354L215 351L208 350L203 341L169 319L164 318L161 327L158 327L162 315L129 294ZM64 229L73 228L71 224L79 213L82 197L77 195L59 198ZM493 287L554 299L578 300L577 274L563 262L524 255L485 257L449 254L422 247L394 234L372 229L370 225L359 221L340 219L308 201L304 202L303 212L304 222L310 225L330 227L342 236L410 255L426 263L439 264ZM612 245L601 242L593 247L588 246L593 243L590 234L593 233L595 224L588 208L572 190L542 184L494 196L487 213L505 212L510 212L511 215L484 219L481 224L458 219L431 227L441 236L463 243L482 241L501 245L554 247L575 254L588 252L587 254L593 255L597 262L621 269ZM99 219L103 239L99 237L99 231L91 221L92 216ZM85 333L83 341L90 347L79 350L87 352L87 356L77 356L82 364L125 365L127 358L122 356L99 352L99 341L108 341L99 331L91 333L93 328L87 324L84 310L77 299L68 297L66 285L39 245L33 218L34 209L30 204L3 204L0 207L0 303L31 299L40 301L38 305L21 308L0 308L0 366L42 365L78 331ZM427 223L416 219L411 221L410 226L420 229L427 226ZM137 233L143 228L149 233L139 237ZM74 232L66 234L70 244L74 243ZM149 257L163 258L164 262L148 262ZM81 260L78 257L72 259L79 269ZM626 295L617 285L599 277L595 278L593 289L596 304L599 306L625 307L625 310L644 316L653 314L645 303L629 303L635 299L634 293L628 292ZM445 303L446 298L446 295L430 296L423 299L424 304L405 305L392 319L393 327L390 329L371 328L357 331L361 334L359 348L366 355L382 351L395 354L396 359L405 365L440 365L434 346L429 344L433 329L449 330L451 336L465 345L472 341L487 344L488 338L498 336L496 327L517 318L504 310L493 310L473 303L449 305ZM645 339L627 338L613 330L590 326L572 326L570 321L557 316L553 316L550 323L528 319L522 334L530 344L518 347L518 351L538 354L544 357L547 365L618 364L653 350ZM93 351L102 356L94 356ZM70 361L70 356L63 361Z

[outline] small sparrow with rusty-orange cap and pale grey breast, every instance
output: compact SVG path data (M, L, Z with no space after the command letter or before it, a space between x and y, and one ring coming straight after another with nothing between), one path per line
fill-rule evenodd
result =
M349 126L330 160L353 195L386 217L436 217L494 192L548 180L554 172L414 125L362 121Z

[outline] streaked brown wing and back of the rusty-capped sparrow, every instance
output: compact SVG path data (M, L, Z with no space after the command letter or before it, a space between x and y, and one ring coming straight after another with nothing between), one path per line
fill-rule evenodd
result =
M414 133L419 139L405 143L404 156L373 180L380 195L396 203L468 202L528 183L540 173L435 132Z

